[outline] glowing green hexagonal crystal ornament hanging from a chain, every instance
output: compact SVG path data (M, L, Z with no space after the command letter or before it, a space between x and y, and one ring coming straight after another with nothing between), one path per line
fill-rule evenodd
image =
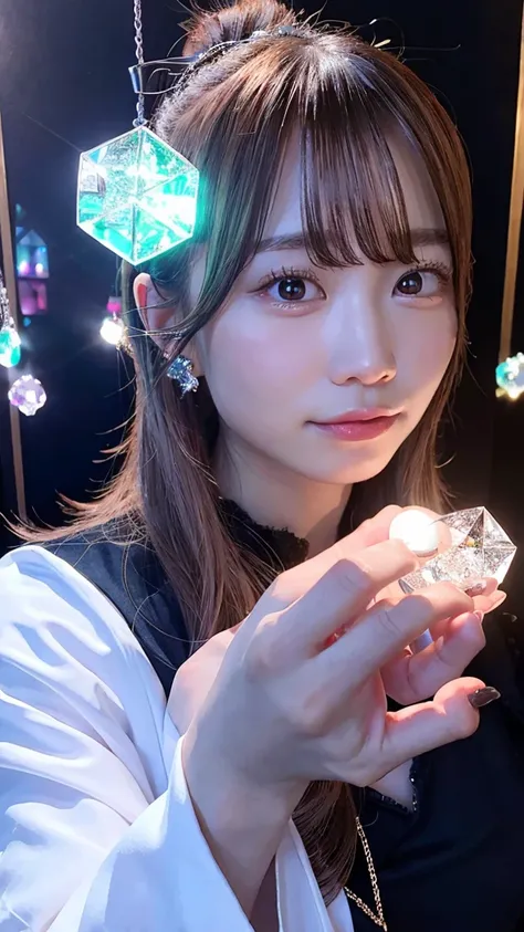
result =
M199 171L147 126L84 153L77 222L133 265L192 237Z

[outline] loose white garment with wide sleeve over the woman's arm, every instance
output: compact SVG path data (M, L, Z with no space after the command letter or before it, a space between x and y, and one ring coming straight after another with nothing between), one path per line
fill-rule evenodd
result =
M102 593L40 547L0 561L0 932L252 930L200 831L182 741ZM276 867L281 932L350 932L292 825Z

